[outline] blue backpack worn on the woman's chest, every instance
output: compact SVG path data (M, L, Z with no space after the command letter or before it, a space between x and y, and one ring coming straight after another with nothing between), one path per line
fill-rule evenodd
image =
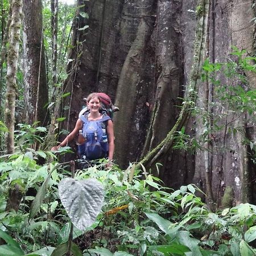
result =
M82 135L85 138L85 143L79 150L80 155L85 156L86 160L105 158L109 151L106 121L111 118L108 115L97 121L88 121L84 115L80 115L79 118L84 122Z

